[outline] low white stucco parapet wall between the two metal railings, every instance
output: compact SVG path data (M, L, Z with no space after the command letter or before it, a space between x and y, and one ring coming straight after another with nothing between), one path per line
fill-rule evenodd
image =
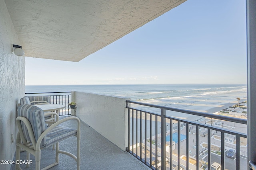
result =
M128 147L126 100L130 98L72 92L72 101L78 104L76 115L122 150Z

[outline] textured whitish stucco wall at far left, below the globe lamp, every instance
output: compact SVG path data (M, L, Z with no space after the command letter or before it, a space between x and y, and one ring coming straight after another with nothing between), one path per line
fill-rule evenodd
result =
M21 45L4 0L0 0L0 160L12 160L16 150L16 105L25 94L25 57L12 54ZM0 170L10 165L0 164Z

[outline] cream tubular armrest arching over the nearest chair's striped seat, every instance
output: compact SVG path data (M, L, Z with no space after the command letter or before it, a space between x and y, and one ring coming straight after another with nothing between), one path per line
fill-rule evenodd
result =
M64 119L61 119L60 121L57 121L56 123L52 124L50 127L48 127L38 138L38 140L36 141L36 150L40 150L40 146L41 146L41 142L44 139L44 137L47 135L47 133L49 133L54 127L60 125L60 123L63 123L65 121L71 120L71 119L75 119L77 121L77 140L80 141L80 119L78 119L78 117L66 117Z

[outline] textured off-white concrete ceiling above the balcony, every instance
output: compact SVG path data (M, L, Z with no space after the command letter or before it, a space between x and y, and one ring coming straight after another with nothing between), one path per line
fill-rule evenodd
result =
M186 0L5 0L27 57L80 61Z

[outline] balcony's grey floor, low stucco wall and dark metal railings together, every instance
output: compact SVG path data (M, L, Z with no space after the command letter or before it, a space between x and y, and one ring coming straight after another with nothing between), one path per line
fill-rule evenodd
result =
M66 116L72 112L67 103L72 100L78 104L76 115L82 120L81 169L172 170L177 166L210 170L214 162L222 170L247 168L246 130L239 131L247 128L246 119L144 104L117 96L84 92L64 95L67 94L53 94L51 102L65 104L67 107L60 115ZM190 119L170 116L171 112L185 113ZM72 127L72 123L66 126ZM71 152L76 150L75 146L75 138L60 143L60 149L65 147ZM229 149L236 154L228 155ZM34 156L31 158L34 162ZM21 153L21 160L26 160L26 153ZM54 151L51 148L42 151L41 167L51 160ZM34 169L33 166L30 168ZM52 169L73 167L76 162L60 154L60 164Z

